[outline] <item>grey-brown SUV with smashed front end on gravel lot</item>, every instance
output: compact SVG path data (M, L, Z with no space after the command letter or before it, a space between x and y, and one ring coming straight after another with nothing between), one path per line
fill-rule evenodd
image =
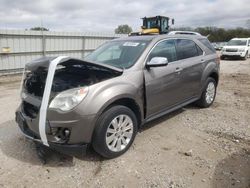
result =
M216 95L219 57L198 35L115 39L84 60L27 63L16 121L24 135L59 152L106 158L128 150L146 122Z

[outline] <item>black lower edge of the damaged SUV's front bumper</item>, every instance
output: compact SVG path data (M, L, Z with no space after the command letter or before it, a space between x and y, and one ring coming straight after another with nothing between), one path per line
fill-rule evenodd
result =
M38 144L43 144L41 139L29 129L25 119L22 119L20 112L16 112L16 122L26 138ZM86 155L86 151L89 146L89 144L57 144L53 142L48 142L48 144L48 147L55 151L75 157L83 157Z

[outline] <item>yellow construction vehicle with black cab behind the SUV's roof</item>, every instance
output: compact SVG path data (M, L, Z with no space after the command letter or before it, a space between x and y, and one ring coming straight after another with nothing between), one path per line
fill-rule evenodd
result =
M155 16L142 18L143 25L141 32L133 32L130 35L148 35L148 34L165 34L169 32L169 17ZM172 25L174 24L174 19Z

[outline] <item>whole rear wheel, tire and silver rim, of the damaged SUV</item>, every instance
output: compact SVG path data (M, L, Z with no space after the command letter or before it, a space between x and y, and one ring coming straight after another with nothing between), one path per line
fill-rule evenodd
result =
M202 92L201 98L196 102L196 104L202 108L211 106L216 96L216 86L216 81L209 77L206 80L206 85Z

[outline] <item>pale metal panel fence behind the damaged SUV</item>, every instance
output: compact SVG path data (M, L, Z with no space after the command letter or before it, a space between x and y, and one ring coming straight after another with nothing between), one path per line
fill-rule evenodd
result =
M0 30L0 75L17 73L41 56L83 58L104 42L124 35Z

